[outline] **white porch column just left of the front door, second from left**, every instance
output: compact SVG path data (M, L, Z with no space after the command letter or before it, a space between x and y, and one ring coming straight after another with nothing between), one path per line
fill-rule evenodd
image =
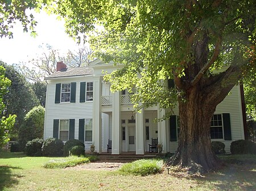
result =
M112 154L121 153L121 133L120 133L120 94L113 94L113 113L112 113Z

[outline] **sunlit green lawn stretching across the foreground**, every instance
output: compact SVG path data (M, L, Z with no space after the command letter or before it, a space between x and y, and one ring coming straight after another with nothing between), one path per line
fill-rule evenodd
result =
M203 177L42 167L52 159L0 152L0 190L256 190L255 155L222 156L226 167Z

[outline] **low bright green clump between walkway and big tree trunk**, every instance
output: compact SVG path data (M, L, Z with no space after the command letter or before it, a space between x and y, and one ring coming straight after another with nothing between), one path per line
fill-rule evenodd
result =
M141 159L123 164L119 172L132 175L154 175L163 171L163 160Z

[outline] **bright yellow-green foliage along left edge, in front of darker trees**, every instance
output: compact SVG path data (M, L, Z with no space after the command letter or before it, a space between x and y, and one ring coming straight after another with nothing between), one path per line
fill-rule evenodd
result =
M15 114L7 114L3 116L3 113L6 111L6 105L3 103L3 96L7 94L7 88L11 81L5 77L5 68L0 65L0 146L5 145L10 139L10 131L14 126L15 123Z

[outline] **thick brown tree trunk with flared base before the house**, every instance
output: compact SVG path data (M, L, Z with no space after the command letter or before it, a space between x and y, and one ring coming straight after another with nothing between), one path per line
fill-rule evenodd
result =
M169 162L192 173L205 173L221 165L210 141L210 121L217 103L209 104L203 92L199 86L193 87L186 92L185 101L179 101L179 146Z

